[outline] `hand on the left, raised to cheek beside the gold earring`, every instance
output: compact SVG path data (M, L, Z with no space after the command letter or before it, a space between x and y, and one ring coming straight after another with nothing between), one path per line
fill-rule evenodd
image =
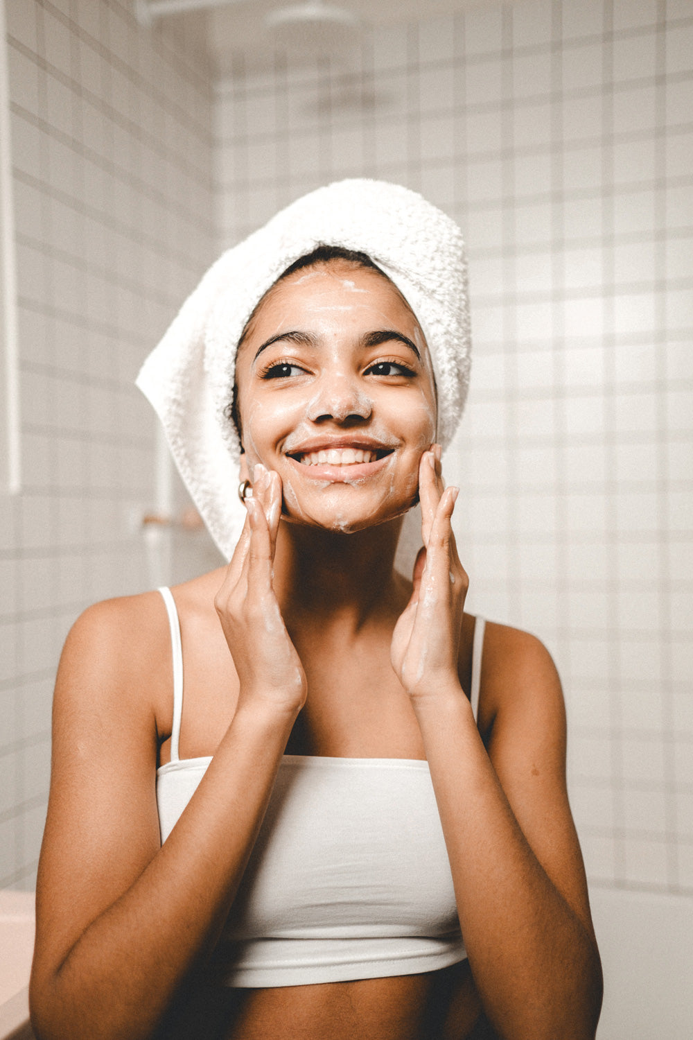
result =
M272 588L282 513L282 479L255 467L247 517L214 599L240 680L239 706L265 704L298 712L308 683Z

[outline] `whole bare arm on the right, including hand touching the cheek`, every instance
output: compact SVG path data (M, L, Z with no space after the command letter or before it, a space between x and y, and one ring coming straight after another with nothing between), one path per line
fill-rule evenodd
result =
M424 738L470 964L504 1040L593 1040L602 973L565 789L558 677L538 641L489 626L487 752L456 669L467 575L453 500L429 472L422 466L427 552L393 661Z

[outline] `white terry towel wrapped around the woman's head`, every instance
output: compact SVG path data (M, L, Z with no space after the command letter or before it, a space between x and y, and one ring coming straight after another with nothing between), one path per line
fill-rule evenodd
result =
M137 378L226 558L245 519L238 498L240 444L226 417L238 341L277 278L318 245L366 253L407 301L433 363L444 447L464 406L470 312L464 243L454 220L417 192L384 181L340 181L298 199L219 257Z

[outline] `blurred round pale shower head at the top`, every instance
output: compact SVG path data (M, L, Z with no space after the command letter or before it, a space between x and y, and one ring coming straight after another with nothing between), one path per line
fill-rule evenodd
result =
M277 47L312 54L351 47L362 32L361 21L353 11L322 0L275 7L265 16L265 26Z

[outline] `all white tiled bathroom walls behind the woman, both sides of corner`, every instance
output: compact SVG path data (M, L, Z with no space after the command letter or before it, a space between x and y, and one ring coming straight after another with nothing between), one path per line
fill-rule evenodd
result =
M26 487L0 499L0 885L33 881L66 628L146 580L139 362L215 236L377 176L470 245L476 364L449 460L470 607L557 657L592 880L691 889L690 4L391 26L348 72L277 59L218 84L213 140L208 70L125 0L7 7ZM180 568L216 563L175 542Z

